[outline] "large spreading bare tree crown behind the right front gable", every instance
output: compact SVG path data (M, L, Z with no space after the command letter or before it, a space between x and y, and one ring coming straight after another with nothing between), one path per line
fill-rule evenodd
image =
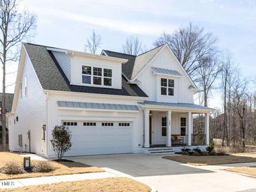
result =
M212 33L190 23L189 26L180 28L173 34L164 32L154 42L154 45L159 46L168 43L181 65L193 78L199 67L198 62L205 56L212 56L218 51L217 40L218 38Z

